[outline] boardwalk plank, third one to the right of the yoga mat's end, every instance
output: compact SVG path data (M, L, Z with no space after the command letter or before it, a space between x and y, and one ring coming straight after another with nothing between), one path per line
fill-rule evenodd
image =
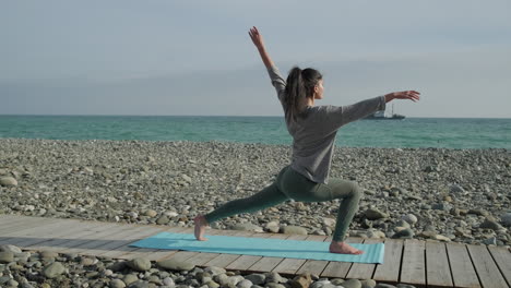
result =
M428 286L452 287L451 267L445 244L426 242L426 280Z

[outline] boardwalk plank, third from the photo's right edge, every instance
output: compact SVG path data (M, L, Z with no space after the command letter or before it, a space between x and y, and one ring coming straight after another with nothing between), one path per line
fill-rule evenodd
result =
M482 287L466 244L447 243L454 287Z

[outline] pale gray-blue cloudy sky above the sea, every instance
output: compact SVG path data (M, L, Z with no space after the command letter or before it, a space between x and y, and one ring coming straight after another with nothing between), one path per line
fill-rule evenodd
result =
M407 117L511 118L511 1L0 0L0 115L282 116L284 77ZM392 106L388 106L392 107Z

